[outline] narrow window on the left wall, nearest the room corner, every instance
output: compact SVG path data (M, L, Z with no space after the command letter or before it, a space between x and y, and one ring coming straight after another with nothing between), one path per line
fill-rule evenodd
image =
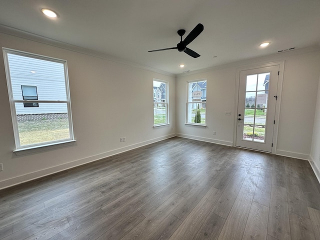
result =
M163 125L168 123L168 83L153 80L153 124Z

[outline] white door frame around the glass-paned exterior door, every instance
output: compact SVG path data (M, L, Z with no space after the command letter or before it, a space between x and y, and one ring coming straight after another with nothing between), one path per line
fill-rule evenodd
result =
M234 101L234 119L233 119L233 144L235 146L236 143L236 127L237 127L237 111L238 111L238 101L239 101L239 84L240 84L240 71L243 70L251 70L261 67L267 66L279 66L279 75L278 75L278 85L277 85L277 100L275 103L275 114L274 114L274 128L273 128L273 138L272 138L272 154L275 154L277 147L277 135L278 135L278 127L279 127L279 119L280 119L280 106L281 106L281 93L282 93L282 83L283 83L283 75L284 75L284 60L282 61L274 61L268 63L262 63L258 65L247 65L236 69L236 77L235 77L235 101ZM239 146L237 146L239 147ZM254 150L254 149L252 149ZM257 150L259 151L259 150Z

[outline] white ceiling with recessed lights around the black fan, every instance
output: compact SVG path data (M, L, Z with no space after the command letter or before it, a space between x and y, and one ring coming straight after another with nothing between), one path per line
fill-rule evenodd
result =
M184 39L197 23L204 30L188 47L200 57L147 52L176 46L176 31ZM176 74L319 45L320 0L0 0L0 24Z

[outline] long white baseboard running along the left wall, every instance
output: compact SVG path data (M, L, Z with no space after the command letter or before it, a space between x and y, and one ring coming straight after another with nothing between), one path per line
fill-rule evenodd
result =
M64 163L64 164L61 164L61 165L57 165L57 166L45 168L45 169L42 169L42 170L39 170L39 171L34 171L34 172L30 172L30 173L23 174L23 175L20 175L20 176L4 179L4 180L0 181L0 189L7 188L7 187L10 187L10 186L13 186L13 185L17 185L17 184L20 184L20 183L23 183L23 182L27 182L27 181L30 181L30 180L34 180L34 179L37 179L37 178L40 178L40 177L43 177L43 176L47 176L47 175L59 172L59 171L67 170L67 169L70 169L70 168L73 168L73 167L76 167L76 166L80 166L80 165L83 165L83 164L86 164L86 163L89 163L89 162L92 162L92 161L100 160L100 159L103 159L103 158L108 157L108 156L112 156L112 155L115 155L115 154L118 154L118 153L121 153L121 152L124 152L124 151L128 151L128 150L132 150L134 148L145 146L145 145L148 145L148 144L151 144L151 143L154 143L154 142L157 142L157 141L161 141L161 140L164 140L164 139L167 139L167 138L171 138L171 137L174 137L174 136L175 136L175 133L174 134L165 135L165 136L161 136L161 137L157 137L157 138L153 138L153 139L150 139L150 140L147 140L147 141L138 142L138 143L135 143L135 144L132 144L132 145L120 147L120 148L113 149L113 150L110 150L110 151L106 151L106 152L103 152L103 153L100 153L100 154L96 154L96 155L92 155L92 156L89 156L89 157L77 159L75 161L67 162L67 163Z

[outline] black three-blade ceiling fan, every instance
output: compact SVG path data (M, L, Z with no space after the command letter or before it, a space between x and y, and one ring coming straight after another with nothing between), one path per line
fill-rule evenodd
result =
M180 39L180 42L178 44L176 44L175 47L162 48L162 49L151 50L151 51L163 51L163 50L169 50L169 49L178 49L178 51L184 51L186 54L188 54L194 58L198 57L200 55L198 53L196 53L195 51L191 50L190 48L187 48L186 45L189 44L191 41L193 41L202 31L203 31L203 25L201 23L198 23L182 41L182 36L185 33L185 30L179 29L177 31L177 33L181 39ZM148 51L148 52L150 52L150 51Z

